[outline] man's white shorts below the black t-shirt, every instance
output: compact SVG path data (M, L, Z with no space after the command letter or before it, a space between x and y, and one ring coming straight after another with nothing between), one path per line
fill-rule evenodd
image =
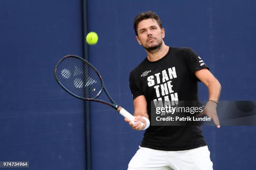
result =
M182 151L139 148L128 170L213 170L207 146Z

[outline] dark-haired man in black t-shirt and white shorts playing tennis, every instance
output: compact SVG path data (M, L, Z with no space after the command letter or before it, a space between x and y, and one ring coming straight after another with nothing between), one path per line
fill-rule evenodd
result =
M200 126L149 126L149 120L151 101L197 101L197 81L202 81L209 90L209 101L202 113L220 128L216 113L220 83L190 48L165 45L164 28L156 13L139 13L134 19L134 30L147 57L131 71L129 79L136 124L126 118L125 121L134 130L146 129L146 132L128 170L212 170L210 152ZM173 75L164 78L162 74L166 71ZM167 80L172 87L169 94L159 88Z

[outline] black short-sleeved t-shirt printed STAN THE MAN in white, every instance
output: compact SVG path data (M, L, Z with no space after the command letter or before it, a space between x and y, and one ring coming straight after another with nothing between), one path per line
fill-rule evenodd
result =
M190 48L169 47L168 53L157 61L145 58L130 73L129 83L133 99L144 95L149 120L151 101L197 101L195 71L208 67ZM161 91L168 86L168 91ZM161 99L160 99L161 98ZM200 126L150 126L146 129L141 147L156 150L189 150L207 145Z

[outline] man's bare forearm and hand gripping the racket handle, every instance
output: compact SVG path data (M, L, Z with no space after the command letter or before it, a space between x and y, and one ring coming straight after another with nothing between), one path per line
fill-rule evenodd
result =
M133 130L142 130L146 127L146 120L143 117L148 119L148 111L147 111L147 101L144 95L138 96L133 100L134 105L134 122L136 124L132 124L132 122L125 118L125 122L128 122L129 125L133 128ZM141 122L143 126L141 127Z

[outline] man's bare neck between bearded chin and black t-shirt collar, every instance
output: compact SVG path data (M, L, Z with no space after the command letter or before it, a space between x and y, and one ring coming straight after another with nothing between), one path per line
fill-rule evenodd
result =
M146 53L148 54L147 58L149 61L157 61L163 58L168 53L168 51L169 51L169 46L166 46L163 42L162 45L155 51L146 50Z

